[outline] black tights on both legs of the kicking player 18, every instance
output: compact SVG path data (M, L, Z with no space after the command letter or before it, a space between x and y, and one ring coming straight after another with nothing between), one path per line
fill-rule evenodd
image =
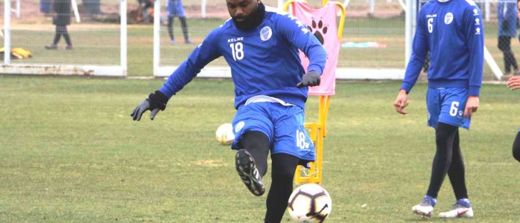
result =
M258 131L246 132L238 144L248 150L255 160L258 172L264 176L267 173L267 155L269 154L269 139ZM279 223L287 209L287 202L293 190L294 171L300 159L288 154L271 155L271 187L267 194L267 212L265 223Z

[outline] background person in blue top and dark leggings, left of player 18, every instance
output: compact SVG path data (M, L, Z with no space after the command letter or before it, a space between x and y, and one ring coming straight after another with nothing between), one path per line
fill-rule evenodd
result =
M191 44L192 41L188 38L188 24L186 23L186 15L184 13L183 1L181 0L166 0L166 14L168 15L168 35L170 35L170 43L175 43L173 36L173 18L178 17L180 26L183 28L184 42Z

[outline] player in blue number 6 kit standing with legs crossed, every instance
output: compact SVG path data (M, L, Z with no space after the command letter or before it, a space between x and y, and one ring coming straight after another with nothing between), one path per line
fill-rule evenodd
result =
M440 186L448 174L457 201L439 217L473 217L459 144L459 127L469 129L471 115L478 108L484 66L482 12L472 0L432 0L419 11L412 55L394 102L400 114L408 114L404 110L407 94L419 77L428 51L431 65L426 107L428 126L435 128L437 149L426 196L412 211L432 216Z

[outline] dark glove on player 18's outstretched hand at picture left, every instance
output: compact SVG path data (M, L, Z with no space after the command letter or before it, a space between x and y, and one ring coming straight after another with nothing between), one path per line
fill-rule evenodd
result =
M155 91L155 93L150 93L147 99L139 103L130 116L132 116L134 121L139 121L145 111L151 110L152 114L150 114L150 119L153 120L155 115L159 113L159 110L166 109L166 103L168 103L168 97L160 91Z

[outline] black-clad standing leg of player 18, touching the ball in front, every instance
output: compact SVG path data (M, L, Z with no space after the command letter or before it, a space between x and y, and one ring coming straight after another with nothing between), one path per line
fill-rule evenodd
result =
M267 194L265 223L279 223L293 190L294 171L300 159L289 154L272 154L272 183Z

